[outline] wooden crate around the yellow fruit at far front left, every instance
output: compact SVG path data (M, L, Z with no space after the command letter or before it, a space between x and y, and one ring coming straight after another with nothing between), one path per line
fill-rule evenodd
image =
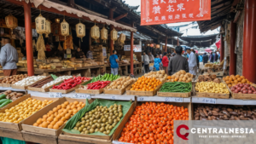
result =
M50 107L51 105L53 105L57 100L59 100L58 98L48 98L48 97L37 97L37 96L31 96L29 95L24 95L22 97L20 97L20 99L13 101L11 103L9 103L9 105L5 108L3 108L2 110L0 110L0 112L5 112L6 109L9 109L11 107L15 107L16 105L18 105L21 101L25 101L27 98L32 98L32 99L37 99L40 101L44 101L44 100L49 100L49 101L54 101L51 104L49 104L48 106L45 106L44 108ZM41 110L39 110L38 112L41 112L42 110L44 110L44 108L42 108ZM35 112L34 114L37 114L38 112ZM31 116L33 116L34 114L32 114ZM31 117L30 116L30 117ZM30 118L28 117L28 118ZM27 118L26 118L27 119ZM9 129L9 130L22 130L21 124L23 121L25 121L26 119L23 119L22 121L20 121L19 124L15 124L15 123L9 123L9 122L2 122L0 121L0 128L4 128L4 129Z

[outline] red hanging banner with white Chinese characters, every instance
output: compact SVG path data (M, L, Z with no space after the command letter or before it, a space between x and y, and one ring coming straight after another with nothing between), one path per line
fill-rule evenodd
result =
M141 26L211 20L211 0L142 0Z

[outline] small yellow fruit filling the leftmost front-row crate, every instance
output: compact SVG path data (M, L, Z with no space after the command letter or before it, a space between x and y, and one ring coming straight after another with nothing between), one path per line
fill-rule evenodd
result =
M15 107L11 107L6 109L4 112L0 112L0 121L18 124L23 119L28 118L34 112L37 112L52 102L53 101L40 101L37 99L27 98Z

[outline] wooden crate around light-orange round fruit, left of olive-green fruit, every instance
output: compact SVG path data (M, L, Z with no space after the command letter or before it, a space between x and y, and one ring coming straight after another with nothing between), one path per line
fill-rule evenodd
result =
M54 103L52 103L52 105L50 105L49 107L44 107L42 110L34 113L30 118L26 118L22 122L22 125L21 125L22 126L22 131L29 132L29 133L37 133L37 134L40 134L40 135L51 135L51 136L52 135L53 136L60 135L61 134L61 130L64 128L65 124L62 124L61 127L58 130L47 129L47 128L40 128L40 127L37 127L37 126L33 126L32 124L36 123L38 118L42 118L44 116L44 114L47 114L53 108L57 107L58 105L61 105L65 101L69 101L69 102L82 101L82 102L85 102L84 99L72 99L72 98L63 97L63 98L59 99L58 101L55 101Z

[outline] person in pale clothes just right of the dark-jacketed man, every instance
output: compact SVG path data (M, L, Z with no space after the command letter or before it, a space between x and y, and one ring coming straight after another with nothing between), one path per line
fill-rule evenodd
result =
M189 54L189 73L193 74L193 76L195 77L197 72L196 55L193 52L193 49L187 49L187 53Z

